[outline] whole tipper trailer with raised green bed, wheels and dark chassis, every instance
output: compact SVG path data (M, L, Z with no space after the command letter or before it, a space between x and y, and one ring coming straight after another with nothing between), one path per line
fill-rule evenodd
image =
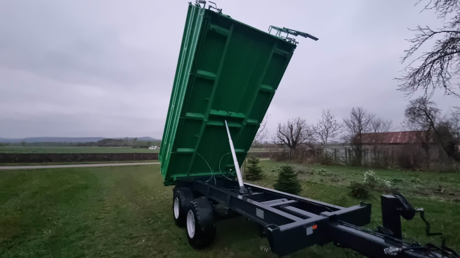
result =
M279 256L334 242L371 258L460 258L444 242L403 242L401 217L416 213L427 236L441 233L430 232L424 209L399 193L380 196L383 226L371 231L362 228L370 203L345 208L244 183L239 164L293 55L289 36L317 38L273 26L271 35L200 4L206 1L189 5L160 152L164 184L176 185L174 222L192 247L213 243L216 220L241 215Z

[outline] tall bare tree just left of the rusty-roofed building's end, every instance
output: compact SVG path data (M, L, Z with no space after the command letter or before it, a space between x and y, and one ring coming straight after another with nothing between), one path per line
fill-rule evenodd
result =
M362 135L371 132L371 123L375 115L354 107L351 109L350 118L344 119L345 138L355 147L356 163L362 164Z

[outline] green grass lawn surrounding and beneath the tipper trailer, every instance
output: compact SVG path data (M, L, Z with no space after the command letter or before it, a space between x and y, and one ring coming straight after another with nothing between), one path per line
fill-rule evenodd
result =
M261 164L266 170L279 165L272 161ZM214 244L202 251L192 249L185 230L174 224L172 187L162 186L159 167L1 171L0 257L276 257L270 250L261 250L262 246L268 247L267 240L260 239L256 225L243 218L219 221ZM341 206L359 202L348 195L347 185L361 179L364 169L296 169L308 171L300 175L301 195ZM460 196L460 175L375 171L384 178L404 180L395 185L407 186L407 198L414 206L426 209L433 231L443 231L449 237L449 246L460 249L460 203L456 199ZM270 186L275 177L267 171L265 179L257 183ZM419 180L410 182L413 178ZM440 184L445 190L432 190ZM381 220L378 197L375 193L369 200L374 204L370 227ZM424 236L420 218L403 221L403 229L408 239L440 244L438 237ZM289 257L360 256L328 244L309 247Z

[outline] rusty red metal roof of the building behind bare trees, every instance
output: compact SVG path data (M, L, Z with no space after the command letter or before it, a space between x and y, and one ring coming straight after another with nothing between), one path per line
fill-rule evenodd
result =
M362 144L404 144L425 142L427 131L371 132L362 134ZM431 137L430 142L432 142Z

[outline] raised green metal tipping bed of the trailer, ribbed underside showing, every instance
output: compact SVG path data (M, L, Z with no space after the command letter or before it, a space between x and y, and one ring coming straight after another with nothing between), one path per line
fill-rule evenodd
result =
M165 185L235 177L224 121L241 165L295 47L189 4L159 157Z

